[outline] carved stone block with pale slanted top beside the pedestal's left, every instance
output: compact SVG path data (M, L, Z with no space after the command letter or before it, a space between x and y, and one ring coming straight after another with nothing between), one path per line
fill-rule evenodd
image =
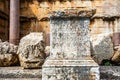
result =
M23 37L17 53L22 67L40 68L45 60L43 33L30 33Z

